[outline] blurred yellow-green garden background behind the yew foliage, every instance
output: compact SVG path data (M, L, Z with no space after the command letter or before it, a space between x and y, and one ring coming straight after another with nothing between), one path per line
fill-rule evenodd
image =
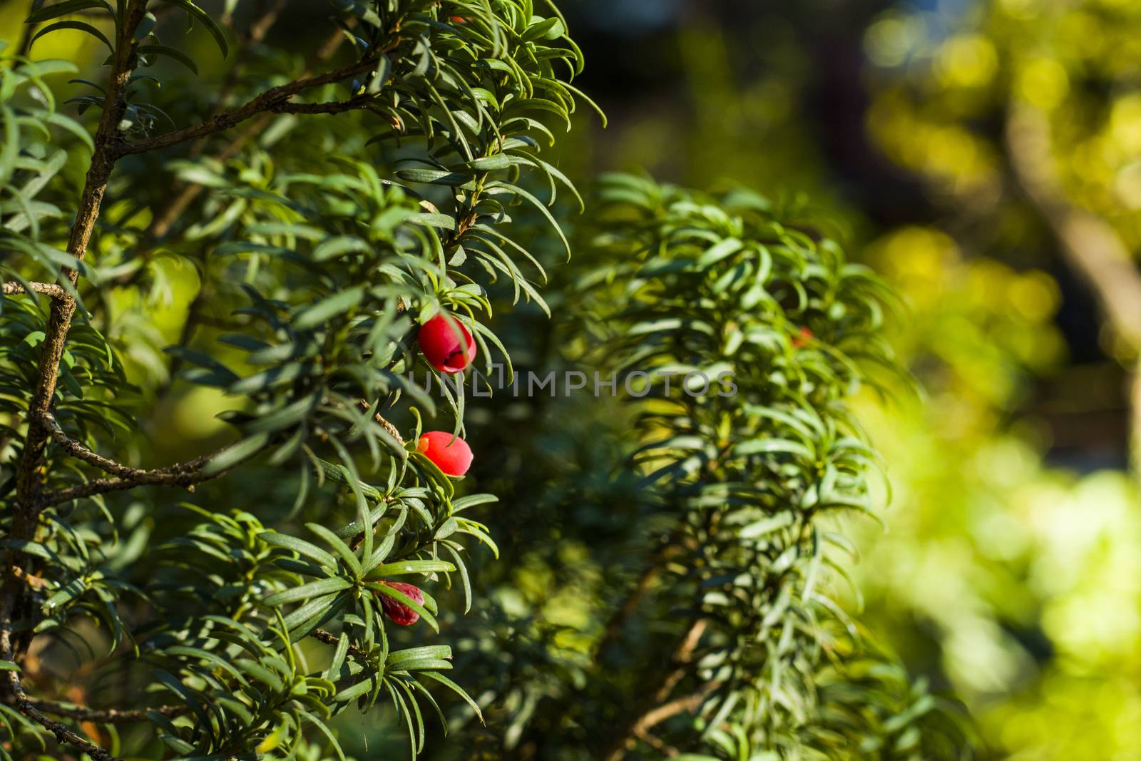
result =
M19 38L26 6L0 0L0 38ZM292 6L272 38L301 47L322 3ZM588 60L578 83L610 120L602 130L582 114L560 143L558 163L576 181L639 169L807 194L908 302L893 339L923 396L901 387L887 403L860 403L891 486L883 526L850 526L863 593L851 605L864 606L868 629L966 703L987 758L1141 758L1141 504L1128 470L1139 347L1103 316L1059 224L1078 214L1124 250L1141 248L1141 3L560 7ZM62 32L33 52L72 57L78 46L94 59L96 44ZM1022 118L1049 141L1019 131ZM156 345L177 338L193 277L168 273L152 310ZM520 319L513 348L525 366L542 364L545 329ZM164 372L149 356L133 367L139 380ZM221 426L204 414L211 405L221 408L203 392L176 394L163 424L193 448ZM582 453L581 430L558 422L581 412L567 406L547 412L535 435L544 452L605 459ZM488 407L482 419L500 414L511 413ZM482 436L493 451L495 436ZM499 443L520 456L510 435ZM545 471L512 467L543 488ZM477 478L493 479L482 473L477 463ZM553 521L540 507L556 501L536 496L515 517ZM551 622L589 629L575 601L601 570L576 542L559 553L574 576L528 556L504 581Z

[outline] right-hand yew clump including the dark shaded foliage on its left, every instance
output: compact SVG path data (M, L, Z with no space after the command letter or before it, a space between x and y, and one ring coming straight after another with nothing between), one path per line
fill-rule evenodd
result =
M746 191L612 176L588 208L570 318L526 339L586 388L492 399L525 423L476 434L528 453L489 518L517 568L460 624L480 758L960 758L955 712L840 602L839 518L879 469L848 403L895 372L891 293Z

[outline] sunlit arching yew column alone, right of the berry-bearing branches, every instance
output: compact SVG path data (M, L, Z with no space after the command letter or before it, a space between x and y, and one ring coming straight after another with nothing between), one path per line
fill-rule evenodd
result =
M874 515L881 470L849 399L896 369L895 294L818 220L744 189L612 176L593 213L584 322L599 364L649 375L629 394L629 467L658 540L620 608L646 618L642 672L609 758L661 742L709 759L957 758L958 722L837 598L856 548L836 518Z

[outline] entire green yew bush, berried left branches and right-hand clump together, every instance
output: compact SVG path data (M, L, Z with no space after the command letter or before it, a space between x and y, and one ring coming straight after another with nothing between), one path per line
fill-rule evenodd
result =
M332 0L292 55L264 43L283 6L35 2L0 65L0 758L342 756L337 714L378 703L412 754L956 753L834 596L832 515L874 507L847 399L891 366L879 281L795 210L631 177L567 267L551 208L576 194L541 146L586 100L557 10ZM216 84L169 67L204 66L168 44L184 21L229 52ZM74 66L23 54L76 32L112 55L73 119ZM574 458L523 445L550 421L477 432L493 508L418 448L423 416L467 437L472 400L429 390L414 337L456 315L510 379L493 305L549 311L541 261L560 363L632 398L567 399L597 423ZM507 604L536 554L589 586L580 631Z

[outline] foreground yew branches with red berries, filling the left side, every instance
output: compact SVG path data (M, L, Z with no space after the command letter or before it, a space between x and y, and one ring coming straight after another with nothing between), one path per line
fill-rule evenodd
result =
M33 3L33 44L70 30L112 51L73 99L94 137L44 81L73 65L0 66L0 758L52 737L70 750L51 753L99 760L341 756L330 718L377 703L415 752L442 690L479 712L444 673L446 640L410 647L383 615L404 606L437 630L434 592L460 586L470 607L466 558L495 548L478 519L494 497L461 495L416 451L408 410L462 436L464 405L462 388L437 405L408 380L431 372L412 337L450 313L489 362L480 283L542 302L503 224L518 204L553 222L519 179L543 175L551 200L566 184L540 157L553 138L536 116L574 110L580 56L558 13L529 0L330 10L339 29L298 72L250 39L269 17L232 46L229 10L189 0ZM162 65L197 67L171 46L178 16L234 60L208 97ZM204 119L203 100L217 104ZM337 119L349 124L308 121ZM147 310L170 298L171 266L192 268L197 292L164 346ZM163 355L219 391L234 435L137 467L162 435L138 420L167 399ZM127 362L154 372L132 386ZM49 643L30 654L38 634ZM319 665L314 640L332 646ZM102 649L76 654L71 690L32 669L73 642Z

